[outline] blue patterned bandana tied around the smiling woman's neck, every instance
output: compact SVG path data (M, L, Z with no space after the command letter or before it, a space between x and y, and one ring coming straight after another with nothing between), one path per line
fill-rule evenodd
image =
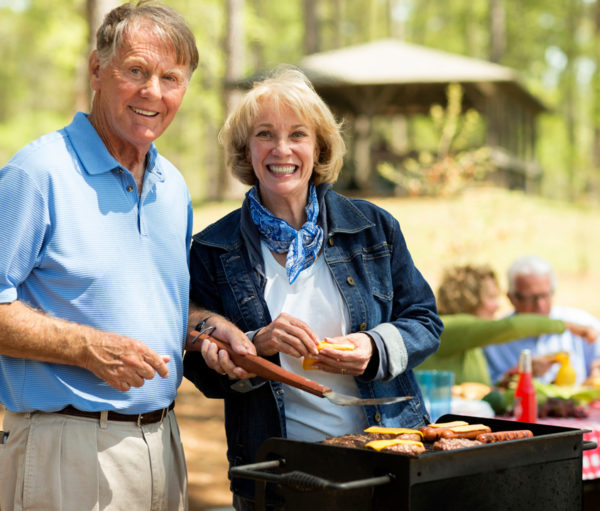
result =
M256 187L250 190L248 198L252 220L262 239L274 252L287 252L285 270L290 284L293 284L300 272L315 261L323 245L323 229L317 225L319 202L315 186L310 183L309 200L304 208L306 222L299 231L260 203Z

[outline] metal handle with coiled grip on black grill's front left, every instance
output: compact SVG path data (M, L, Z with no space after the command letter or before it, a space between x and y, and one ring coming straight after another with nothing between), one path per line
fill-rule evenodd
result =
M263 461L260 463L251 463L249 465L232 467L229 470L229 473L232 476L245 479L254 479L257 481L280 484L296 491L355 490L357 488L367 488L370 486L388 484L392 481L392 479L394 479L393 474L387 474L379 477L369 477L367 479L358 479L356 481L338 483L312 474L307 474L306 472L300 472L299 470L293 470L285 474L261 472L261 470L278 468L284 464L285 460Z

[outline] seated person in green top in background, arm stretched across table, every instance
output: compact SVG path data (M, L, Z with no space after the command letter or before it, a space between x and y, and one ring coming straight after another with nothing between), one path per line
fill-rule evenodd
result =
M457 385L477 382L491 385L492 379L483 346L532 335L579 331L541 314L520 314L494 319L499 287L488 265L466 264L448 268L437 290L438 313L444 323L440 347L417 369L452 371Z

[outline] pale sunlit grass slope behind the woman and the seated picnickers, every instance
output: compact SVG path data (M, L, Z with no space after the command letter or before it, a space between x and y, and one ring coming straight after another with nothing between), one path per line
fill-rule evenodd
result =
M370 200L399 220L415 264L434 289L444 268L467 262L492 265L505 288L512 260L536 254L555 268L554 302L600 318L600 207L491 187L472 188L447 199ZM195 231L239 204L210 203L196 208ZM507 310L505 300L501 312Z

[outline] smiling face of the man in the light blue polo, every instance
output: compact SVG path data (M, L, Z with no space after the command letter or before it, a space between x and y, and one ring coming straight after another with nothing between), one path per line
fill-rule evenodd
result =
M116 151L134 146L142 152L173 120L189 73L177 63L174 51L143 27L125 37L106 66L100 67L94 53L90 71L96 92L93 116L103 138Z

